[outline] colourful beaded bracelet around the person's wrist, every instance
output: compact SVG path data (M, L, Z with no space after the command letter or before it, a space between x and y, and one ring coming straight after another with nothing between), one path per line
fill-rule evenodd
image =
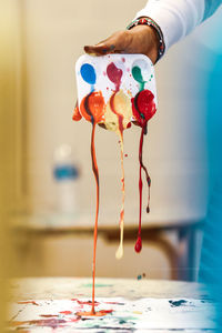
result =
M158 49L158 59L157 59L157 62L163 57L164 54L164 51L165 51L165 43L164 43L164 38L163 38L163 33L160 29L160 27L155 23L155 21L153 21L152 19L150 18L141 18L141 19L137 19L134 21L132 21L128 27L127 29L130 30L132 29L133 27L137 27L137 26L141 26L141 24L145 24L145 26L149 26L149 27L152 27L155 32L158 33L158 37L159 37L159 49Z

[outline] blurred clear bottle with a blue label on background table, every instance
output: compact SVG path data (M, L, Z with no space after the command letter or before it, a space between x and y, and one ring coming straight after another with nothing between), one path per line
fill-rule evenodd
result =
M72 148L68 144L58 147L53 159L53 179L57 186L56 205L59 212L77 212L79 175Z

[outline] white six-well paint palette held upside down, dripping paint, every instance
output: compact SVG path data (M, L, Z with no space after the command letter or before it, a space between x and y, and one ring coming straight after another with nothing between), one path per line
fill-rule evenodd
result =
M129 127L130 121L138 120L137 112L140 117L147 112L142 117L148 121L157 110L153 108L153 104L157 107L154 69L147 56L84 54L77 61L75 73L79 117L83 115L88 121L91 121L91 117L85 104L93 109L97 122L104 123L108 130L113 131L119 128L112 103L123 117L123 129Z

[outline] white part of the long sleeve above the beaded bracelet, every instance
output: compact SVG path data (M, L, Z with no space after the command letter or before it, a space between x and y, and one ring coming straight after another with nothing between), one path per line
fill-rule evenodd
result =
M150 17L162 30L165 50L199 26L205 14L205 0L150 0L139 17Z

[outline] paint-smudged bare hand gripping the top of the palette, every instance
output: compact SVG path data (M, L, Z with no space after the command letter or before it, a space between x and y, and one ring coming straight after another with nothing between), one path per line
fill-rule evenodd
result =
M158 59L159 38L153 28L137 26L131 30L113 33L95 46L85 46L84 51L93 56L108 53L142 53L154 64Z

